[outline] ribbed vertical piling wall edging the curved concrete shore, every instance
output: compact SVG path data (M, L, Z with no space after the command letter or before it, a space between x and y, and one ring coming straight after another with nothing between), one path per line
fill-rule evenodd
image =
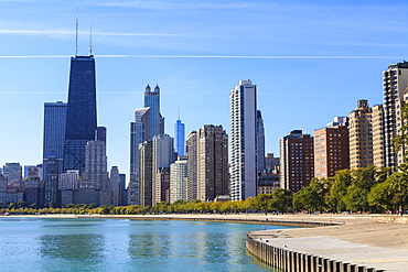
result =
M308 254L277 247L270 240L255 238L247 233L246 247L258 259L284 272L382 272L384 270L347 263L329 258Z

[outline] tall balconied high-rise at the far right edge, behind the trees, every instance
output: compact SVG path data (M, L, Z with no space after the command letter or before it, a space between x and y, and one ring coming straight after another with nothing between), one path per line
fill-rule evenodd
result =
M383 72L386 167L396 167L402 161L401 156L397 157L393 139L397 137L398 128L401 126L400 111L405 104L407 86L408 62L391 64Z

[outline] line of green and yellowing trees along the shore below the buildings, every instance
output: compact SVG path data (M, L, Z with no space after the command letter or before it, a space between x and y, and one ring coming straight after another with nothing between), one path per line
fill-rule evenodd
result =
M65 205L36 209L24 203L9 204L0 214L237 214L237 213L405 213L408 207L408 172L377 168L374 165L342 170L334 177L312 178L309 186L297 193L280 188L270 195L258 195L246 200L206 203L178 200L159 203L154 207L99 206L95 204Z

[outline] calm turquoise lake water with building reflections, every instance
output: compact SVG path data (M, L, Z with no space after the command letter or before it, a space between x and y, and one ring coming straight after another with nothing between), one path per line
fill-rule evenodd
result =
M206 221L0 218L0 271L270 271L245 247L246 232L260 229Z

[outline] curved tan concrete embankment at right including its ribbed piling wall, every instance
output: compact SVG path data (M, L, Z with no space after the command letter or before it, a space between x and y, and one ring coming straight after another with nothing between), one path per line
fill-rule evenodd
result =
M318 218L333 226L251 231L247 249L284 272L408 271L408 217L309 217Z

